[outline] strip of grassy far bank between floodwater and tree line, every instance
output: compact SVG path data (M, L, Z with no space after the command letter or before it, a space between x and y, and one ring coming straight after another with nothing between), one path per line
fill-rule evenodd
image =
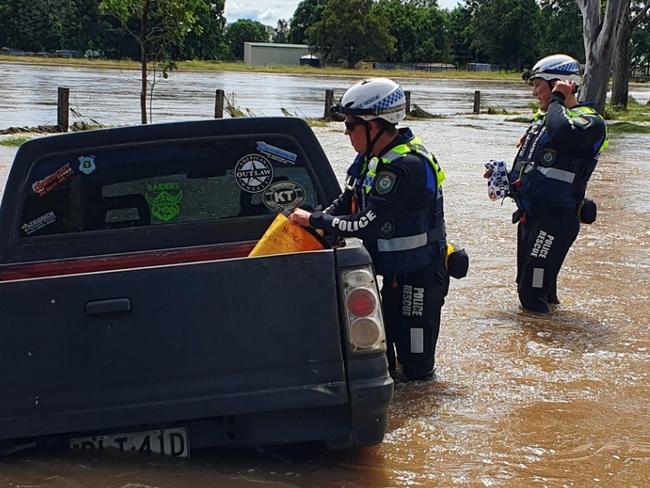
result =
M71 66L82 68L102 68L138 70L140 64L135 61L107 60L107 59L63 59L63 58L41 58L32 56L3 56L0 55L0 62L20 63L42 66ZM355 70L346 68L313 68L311 66L248 66L244 63L226 63L221 61L179 61L179 71L235 71L242 73L275 73L286 75L309 75L309 76L349 76L363 78L366 76L387 76L391 78L426 78L446 80L477 80L477 81L521 81L521 75L517 72L494 71L411 71L411 70Z

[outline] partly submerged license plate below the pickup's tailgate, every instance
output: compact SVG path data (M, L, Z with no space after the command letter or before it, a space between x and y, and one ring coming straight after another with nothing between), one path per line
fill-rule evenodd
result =
M101 452L114 449L120 452L141 452L160 456L190 457L187 429L147 430L126 434L96 435L70 439L70 449Z

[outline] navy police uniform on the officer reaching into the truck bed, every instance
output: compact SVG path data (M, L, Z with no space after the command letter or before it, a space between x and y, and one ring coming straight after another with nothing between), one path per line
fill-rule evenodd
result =
M440 310L449 287L443 178L433 156L409 129L401 129L379 157L366 161L358 155L343 194L310 218L312 227L328 234L363 240L384 277L390 366L395 367L394 344L411 379L433 373Z

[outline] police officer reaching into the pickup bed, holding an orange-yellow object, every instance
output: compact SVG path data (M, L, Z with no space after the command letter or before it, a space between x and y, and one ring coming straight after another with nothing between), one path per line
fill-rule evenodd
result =
M344 192L322 212L297 209L294 223L326 234L359 237L370 252L381 291L389 368L397 360L411 380L431 378L440 311L449 288L442 198L445 173L410 129L402 88L371 78L349 88L334 108L357 151ZM466 255L452 254L466 272ZM395 348L395 349L394 349Z

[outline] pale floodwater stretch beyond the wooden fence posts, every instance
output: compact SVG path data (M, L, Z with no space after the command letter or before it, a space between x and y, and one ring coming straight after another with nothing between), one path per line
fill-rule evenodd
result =
M138 71L98 70L0 63L0 129L56 124L57 87L70 88L70 122L91 119L105 125L140 123ZM222 89L242 110L257 116L282 115L285 108L299 117L322 117L325 90L337 97L351 78L265 73L174 72L159 80L153 101L153 122L214 116L215 90ZM482 109L526 110L530 88L519 82L400 79L412 103L434 114L470 113L474 91L481 91ZM650 99L650 87L631 88L639 102ZM77 115L75 115L78 114Z

